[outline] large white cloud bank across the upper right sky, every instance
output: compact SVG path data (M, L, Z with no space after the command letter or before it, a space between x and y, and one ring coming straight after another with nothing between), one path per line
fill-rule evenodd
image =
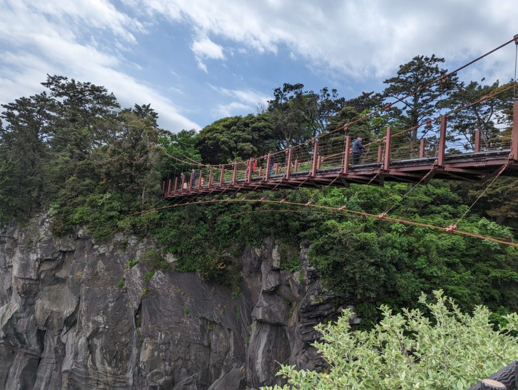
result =
M313 69L359 80L390 76L416 54L465 61L518 32L515 0L476 5L468 0L133 0L133 4L172 22L189 23L212 40L238 45L238 52L277 53L286 48ZM497 75L506 65L498 56L494 59L488 69Z

